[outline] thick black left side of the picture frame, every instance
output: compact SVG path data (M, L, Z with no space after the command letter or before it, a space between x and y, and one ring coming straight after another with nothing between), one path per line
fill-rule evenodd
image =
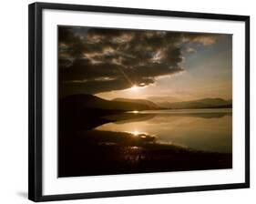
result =
M28 5L28 199L42 199L42 7Z

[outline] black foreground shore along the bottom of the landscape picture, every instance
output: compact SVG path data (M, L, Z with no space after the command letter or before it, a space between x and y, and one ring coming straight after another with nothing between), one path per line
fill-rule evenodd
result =
M231 154L158 144L150 136L65 131L58 143L59 177L232 168Z

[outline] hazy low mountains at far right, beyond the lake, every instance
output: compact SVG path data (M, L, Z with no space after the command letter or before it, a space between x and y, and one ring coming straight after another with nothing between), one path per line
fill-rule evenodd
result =
M222 98L202 98L199 100L190 100L182 102L161 102L157 104L159 107L171 109L186 109L186 108L217 108L217 107L232 107L231 100Z

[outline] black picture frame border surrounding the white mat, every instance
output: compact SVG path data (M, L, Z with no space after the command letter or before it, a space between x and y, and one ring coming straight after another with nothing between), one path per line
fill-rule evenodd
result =
M128 15L159 15L198 19L231 20L245 23L245 182L221 185L189 186L162 189L131 189L63 195L42 194L42 12L44 9L91 11ZM219 15L166 10L148 10L93 5L34 3L29 5L29 166L28 199L33 201L92 199L187 191L242 189L250 187L250 16Z

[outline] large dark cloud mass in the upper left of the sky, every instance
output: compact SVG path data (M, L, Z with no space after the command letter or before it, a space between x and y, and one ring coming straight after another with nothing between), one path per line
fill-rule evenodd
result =
M208 46L218 35L166 31L58 27L61 96L96 94L134 85L148 86L158 76L183 71L184 45Z

